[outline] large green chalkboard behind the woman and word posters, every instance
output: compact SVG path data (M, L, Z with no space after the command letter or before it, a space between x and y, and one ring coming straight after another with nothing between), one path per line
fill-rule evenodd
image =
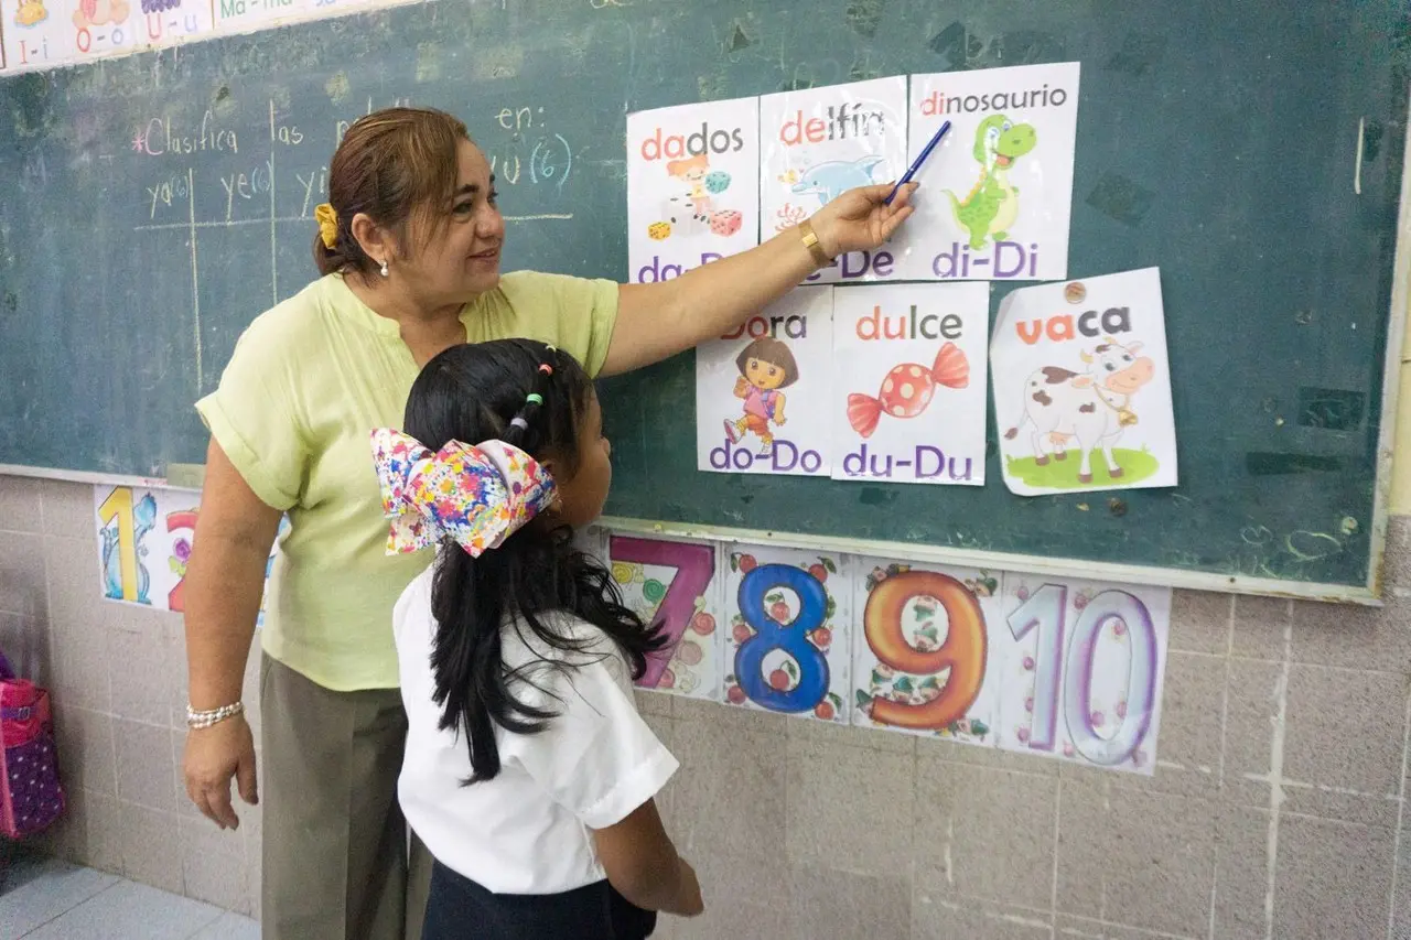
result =
M368 109L467 120L509 267L625 278L631 110L1061 61L1082 62L1070 272L1161 267L1180 488L1020 500L993 447L983 490L701 474L682 356L607 384L610 511L1374 583L1411 64L1391 0L443 0L3 78L0 464L199 462L192 401L313 277L327 159Z

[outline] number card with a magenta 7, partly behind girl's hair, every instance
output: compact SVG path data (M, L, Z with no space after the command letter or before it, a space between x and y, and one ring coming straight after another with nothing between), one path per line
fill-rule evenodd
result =
M612 580L624 603L659 624L666 645L648 656L639 689L691 699L720 697L721 546L713 542L612 534Z

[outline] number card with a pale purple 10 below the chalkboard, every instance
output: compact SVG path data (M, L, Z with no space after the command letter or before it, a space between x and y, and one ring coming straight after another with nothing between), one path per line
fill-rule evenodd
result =
M1009 573L1002 614L999 747L1150 775L1171 590Z

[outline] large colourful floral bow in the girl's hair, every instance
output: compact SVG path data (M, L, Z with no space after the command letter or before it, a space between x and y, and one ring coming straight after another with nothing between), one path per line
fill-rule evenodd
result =
M373 432L382 512L392 524L388 555L430 548L443 538L478 558L553 504L557 487L539 462L514 445L452 440L432 453L391 428Z

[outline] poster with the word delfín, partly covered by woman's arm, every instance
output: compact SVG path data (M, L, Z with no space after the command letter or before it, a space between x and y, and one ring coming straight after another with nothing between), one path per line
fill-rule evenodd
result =
M849 189L906 172L906 76L766 95L759 135L759 217L768 240ZM895 274L896 258L883 247L844 254L809 282Z

